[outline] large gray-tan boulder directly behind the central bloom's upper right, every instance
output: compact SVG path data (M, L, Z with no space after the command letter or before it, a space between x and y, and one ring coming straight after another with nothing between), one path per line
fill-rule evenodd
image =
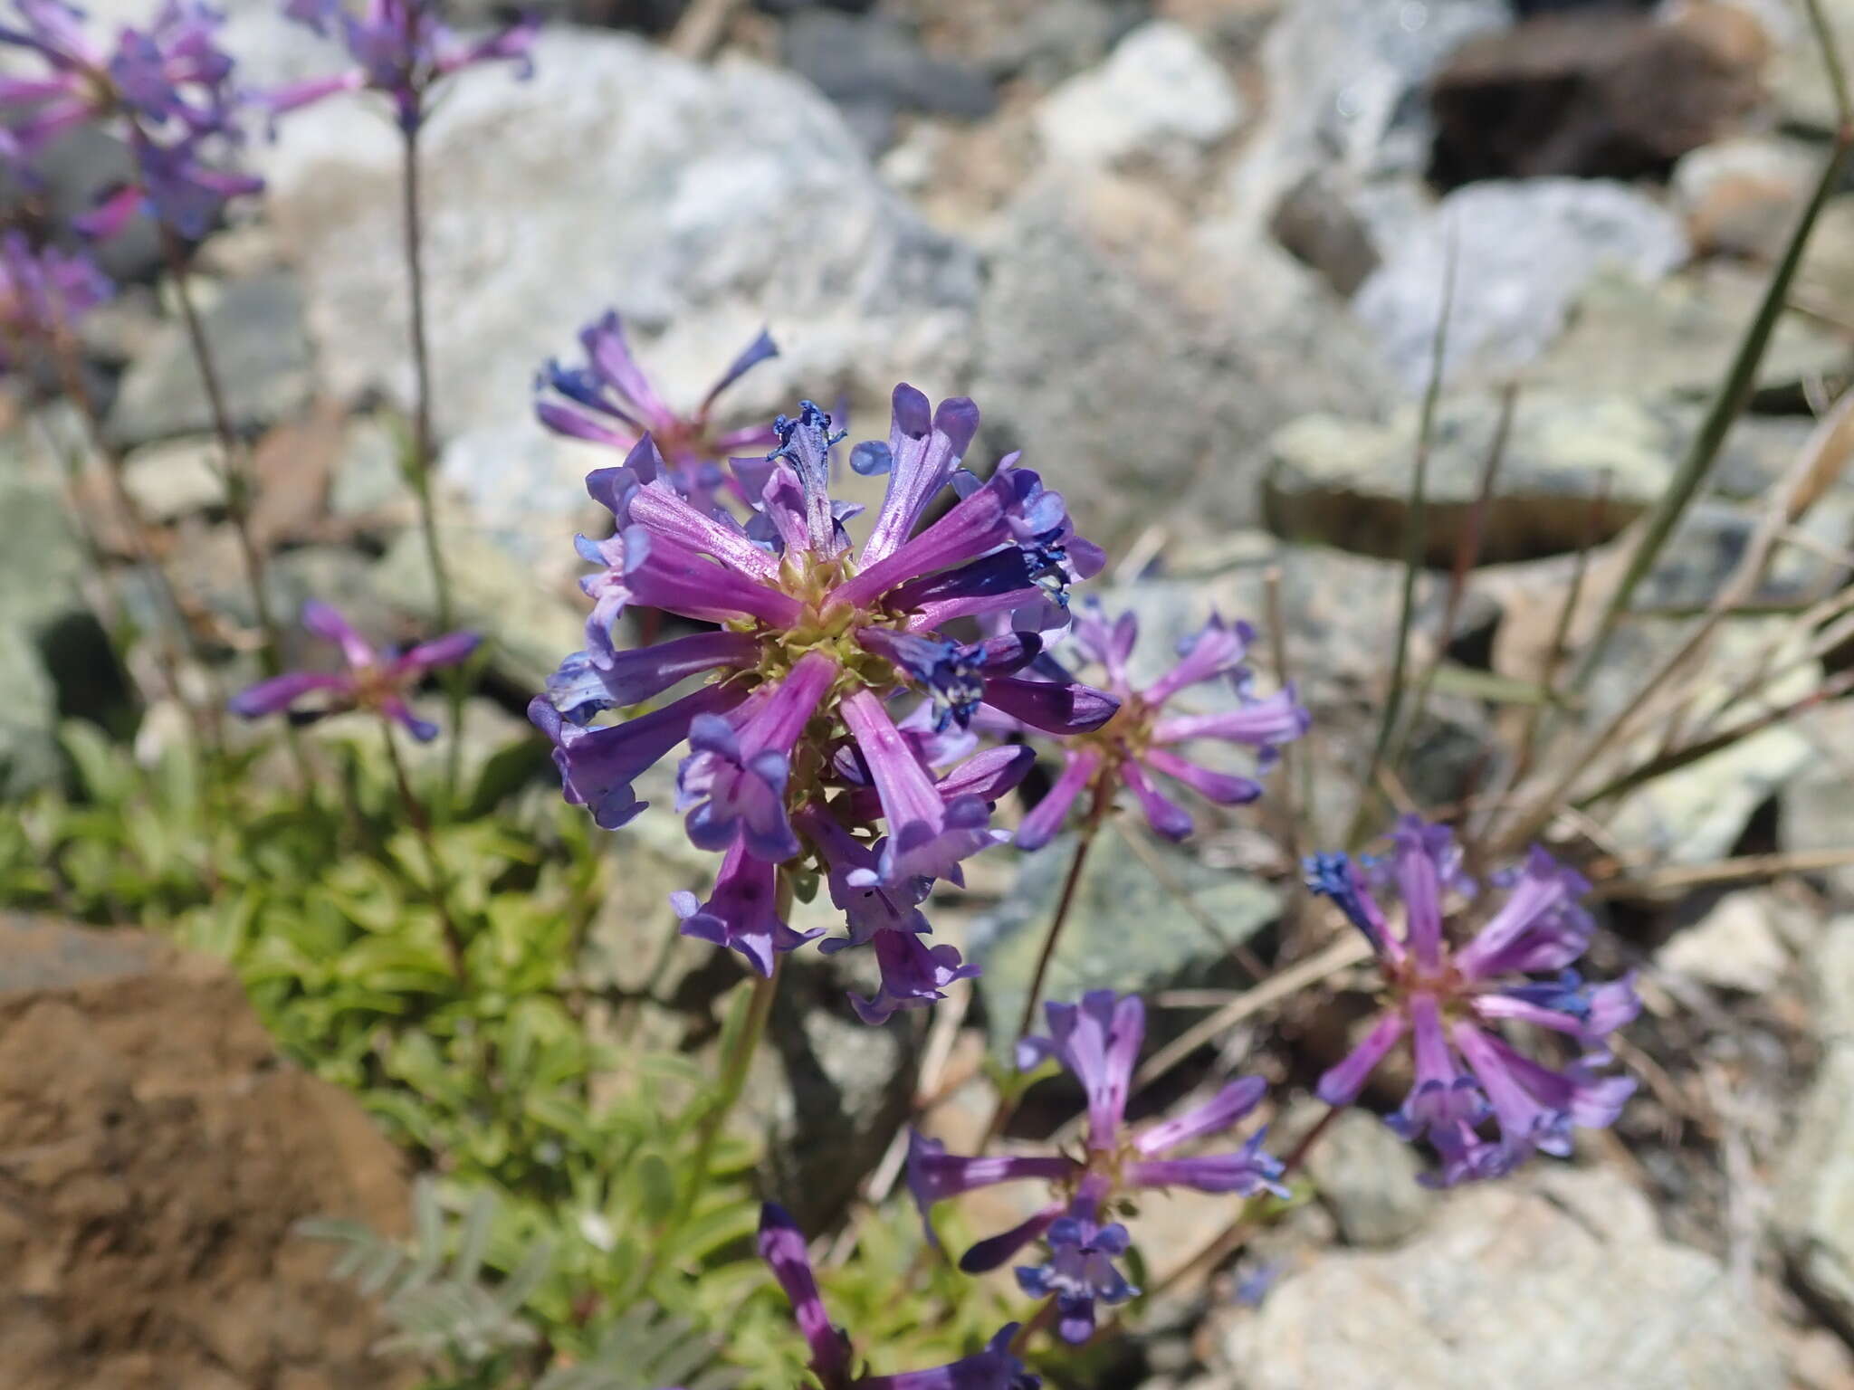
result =
M1194 230L1129 180L1044 178L992 245L981 443L1025 447L1103 545L1153 521L1187 536L1253 523L1270 432L1390 397L1311 271L1263 235Z

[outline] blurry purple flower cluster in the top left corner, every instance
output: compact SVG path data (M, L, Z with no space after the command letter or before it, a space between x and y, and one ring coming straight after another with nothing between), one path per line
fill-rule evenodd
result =
M106 48L85 33L83 11L61 0L15 0L15 9L0 44L32 54L43 72L0 78L0 156L32 176L54 137L96 124L121 133L135 159L135 178L80 219L82 232L108 237L146 209L200 237L228 198L263 187L221 163L241 139L241 98L217 11L165 0L150 26L124 28Z

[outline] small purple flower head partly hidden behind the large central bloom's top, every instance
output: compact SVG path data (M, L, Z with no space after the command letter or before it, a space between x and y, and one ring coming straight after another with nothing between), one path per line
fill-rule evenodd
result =
M721 373L721 380L708 387L701 404L686 415L677 413L638 367L625 337L625 322L616 310L586 324L580 330L580 345L586 350L584 367L549 361L536 380L540 395L534 413L541 424L554 434L610 445L623 452L636 449L647 434L669 465L671 486L705 512L712 510L717 491L725 491L742 506L751 508L758 502L758 493L749 489L749 482L755 480L753 473L760 473L756 480L764 489L764 467L723 471L721 465L734 454L766 452L779 443L779 437L768 424L716 430L712 415L727 387L768 358L779 356L769 334L762 332L753 339ZM742 473L749 476L743 478Z

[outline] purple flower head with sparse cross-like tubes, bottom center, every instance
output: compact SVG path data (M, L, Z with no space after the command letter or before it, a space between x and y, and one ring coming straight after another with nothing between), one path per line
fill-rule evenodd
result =
M1044 1005L1048 1038L1018 1043L1018 1066L1027 1069L1055 1056L1088 1095L1086 1147L1081 1156L1022 1155L962 1158L921 1134L908 1136L908 1188L921 1208L921 1221L934 1203L996 1182L1049 1182L1055 1199L1023 1223L966 1251L959 1268L968 1273L996 1270L1038 1236L1049 1245L1049 1264L1020 1268L1018 1283L1033 1294L1057 1299L1059 1331L1070 1342L1094 1333L1094 1305L1122 1303L1133 1290L1112 1260L1125 1251L1125 1229L1099 1225L1099 1214L1129 1194L1151 1188L1198 1192L1285 1190L1277 1184L1281 1164L1263 1153L1263 1132L1235 1153L1172 1156L1192 1140L1222 1134L1248 1116L1266 1093L1259 1077L1224 1086L1203 1105L1174 1119L1127 1131L1127 1095L1133 1064L1146 1040L1146 1006L1137 995L1092 990L1075 1005ZM927 1227L929 1238L933 1227Z

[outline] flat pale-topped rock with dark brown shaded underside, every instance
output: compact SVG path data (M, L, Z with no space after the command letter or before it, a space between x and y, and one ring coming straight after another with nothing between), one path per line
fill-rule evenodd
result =
M1279 430L1268 445L1268 524L1290 539L1402 556L1420 417L1407 404L1383 424L1307 415ZM1424 474L1429 563L1450 563L1498 428L1500 400L1491 391L1439 404ZM1672 424L1633 397L1522 393L1483 513L1481 560L1578 549L1606 478L1606 530L1596 539L1609 539L1667 487L1674 449Z

